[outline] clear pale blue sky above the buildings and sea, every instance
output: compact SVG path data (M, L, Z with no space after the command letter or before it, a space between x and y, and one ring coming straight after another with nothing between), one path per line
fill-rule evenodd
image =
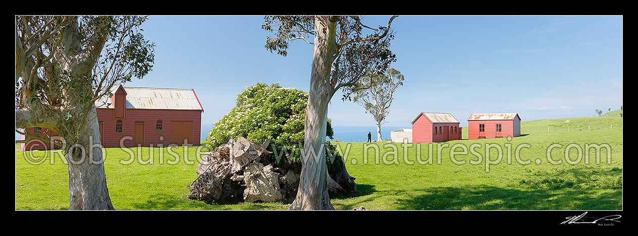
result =
M364 17L386 25L389 17ZM266 50L263 16L151 16L153 71L125 86L194 88L202 123L218 121L241 90L279 82L308 92L313 46L295 41L287 57ZM420 112L513 113L523 120L594 116L623 103L621 16L401 16L392 67L405 76L387 125L411 127ZM337 93L333 125L373 126Z

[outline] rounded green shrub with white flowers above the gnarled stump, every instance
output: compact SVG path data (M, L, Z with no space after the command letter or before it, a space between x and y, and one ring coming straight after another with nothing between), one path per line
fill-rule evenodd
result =
M237 95L237 106L214 123L206 139L207 148L212 150L230 138L246 137L255 143L271 139L270 151L281 153L285 148L288 156L284 154L281 160L290 158L299 163L307 102L308 93L295 88L283 88L278 83L252 85ZM332 139L333 134L328 119L326 135ZM273 146L277 150L272 150ZM330 160L327 163L330 166Z

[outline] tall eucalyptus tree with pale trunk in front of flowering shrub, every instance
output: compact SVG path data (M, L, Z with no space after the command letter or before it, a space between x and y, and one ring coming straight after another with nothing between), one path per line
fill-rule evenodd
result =
M367 73L384 73L396 55L390 51L394 32L388 24L376 28L362 23L359 16L266 16L262 29L274 35L265 48L286 56L288 44L302 40L314 46L308 105L304 120L302 171L297 197L291 210L334 209L327 191L325 132L328 104L332 95L343 91L350 99L357 81ZM364 30L369 31L365 34Z

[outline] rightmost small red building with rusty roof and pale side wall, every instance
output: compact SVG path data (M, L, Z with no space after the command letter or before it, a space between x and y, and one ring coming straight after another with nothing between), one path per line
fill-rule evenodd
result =
M468 118L468 139L521 136L521 117L518 113L472 113Z

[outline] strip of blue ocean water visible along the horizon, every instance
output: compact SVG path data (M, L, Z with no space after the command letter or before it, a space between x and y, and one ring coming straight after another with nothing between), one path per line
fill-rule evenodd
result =
M390 139L390 131L397 130L399 128L412 128L412 127L397 127L397 126L383 126L381 127L381 136L383 139ZM201 140L206 140L208 132L211 132L212 124L202 124ZM372 132L372 139L376 140L376 126L333 126L334 140L346 141L346 142L366 142L367 132ZM327 138L330 140L329 138ZM20 134L15 133L15 140L20 140Z

